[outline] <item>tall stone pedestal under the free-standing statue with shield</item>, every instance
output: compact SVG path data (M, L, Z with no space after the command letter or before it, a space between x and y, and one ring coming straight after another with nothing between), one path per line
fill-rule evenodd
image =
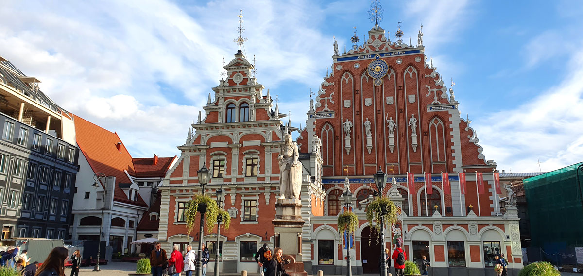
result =
M304 226L300 200L284 199L275 202L275 247L283 250L285 270L291 276L307 276L301 254L301 234Z

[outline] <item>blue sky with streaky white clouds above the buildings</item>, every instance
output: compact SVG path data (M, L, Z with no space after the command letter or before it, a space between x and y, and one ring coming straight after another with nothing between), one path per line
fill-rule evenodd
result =
M116 131L132 156L179 155L187 129L244 50L280 111L305 125L310 89L331 66L332 37L350 47L373 27L370 1L16 1L0 9L0 55L65 110ZM380 26L402 22L477 131L498 169L536 172L583 159L580 1L381 1ZM34 7L34 8L31 8Z

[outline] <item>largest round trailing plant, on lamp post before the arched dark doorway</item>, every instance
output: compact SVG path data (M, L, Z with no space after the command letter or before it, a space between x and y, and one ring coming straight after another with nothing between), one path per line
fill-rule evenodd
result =
M388 226L389 228L390 225L397 221L397 207L395 203L388 198L377 197L368 204L366 209L366 219L370 225L374 225L374 229L377 230L377 233L380 233L381 221L384 221L385 226ZM377 243L380 242L381 235L377 235Z

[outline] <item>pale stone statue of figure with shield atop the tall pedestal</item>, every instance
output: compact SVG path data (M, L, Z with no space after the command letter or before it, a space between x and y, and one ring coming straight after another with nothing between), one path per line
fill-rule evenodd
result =
M301 191L301 163L296 143L291 141L291 134L286 134L285 145L279 153L279 184L282 195L279 199L300 199Z

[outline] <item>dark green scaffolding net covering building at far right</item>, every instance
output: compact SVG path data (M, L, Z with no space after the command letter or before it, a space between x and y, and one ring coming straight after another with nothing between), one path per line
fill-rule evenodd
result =
M531 246L583 246L583 171L577 163L523 180L531 222ZM554 247L554 246L553 246Z

